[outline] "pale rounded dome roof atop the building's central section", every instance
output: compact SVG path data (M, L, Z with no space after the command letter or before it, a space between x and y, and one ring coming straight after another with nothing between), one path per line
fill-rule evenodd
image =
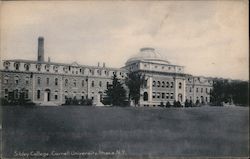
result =
M155 51L154 48L141 48L140 52L135 56L128 59L126 64L133 63L135 61L148 61L160 64L170 64L164 57L161 56L158 52Z

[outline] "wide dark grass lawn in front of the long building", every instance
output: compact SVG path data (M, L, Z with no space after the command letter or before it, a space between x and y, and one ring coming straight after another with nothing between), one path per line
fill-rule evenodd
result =
M246 107L3 107L3 154L247 157L248 125Z

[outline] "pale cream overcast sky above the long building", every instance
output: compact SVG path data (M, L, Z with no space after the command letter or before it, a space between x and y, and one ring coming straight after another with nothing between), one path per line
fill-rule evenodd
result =
M1 2L0 2L1 3ZM248 2L27 1L1 3L1 59L122 67L154 47L193 75L247 80Z

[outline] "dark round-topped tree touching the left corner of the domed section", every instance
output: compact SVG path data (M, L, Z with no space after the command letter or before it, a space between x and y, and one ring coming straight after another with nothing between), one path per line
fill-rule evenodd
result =
M139 104L140 89L146 85L145 75L137 72L131 72L126 78L126 85L129 89L129 99L134 101L135 105Z

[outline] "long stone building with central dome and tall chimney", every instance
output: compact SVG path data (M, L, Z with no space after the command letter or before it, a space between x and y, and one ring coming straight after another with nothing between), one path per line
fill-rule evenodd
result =
M55 63L44 61L44 39L38 38L38 58L31 60L4 60L1 69L1 97L8 98L14 92L38 105L61 105L66 98L92 99L94 104L105 96L112 77L122 81L129 72L145 75L146 83L141 88L140 106L157 106L174 100L182 104L186 99L209 102L212 79L194 77L184 73L184 67L173 65L163 59L153 48L142 48L122 68Z

